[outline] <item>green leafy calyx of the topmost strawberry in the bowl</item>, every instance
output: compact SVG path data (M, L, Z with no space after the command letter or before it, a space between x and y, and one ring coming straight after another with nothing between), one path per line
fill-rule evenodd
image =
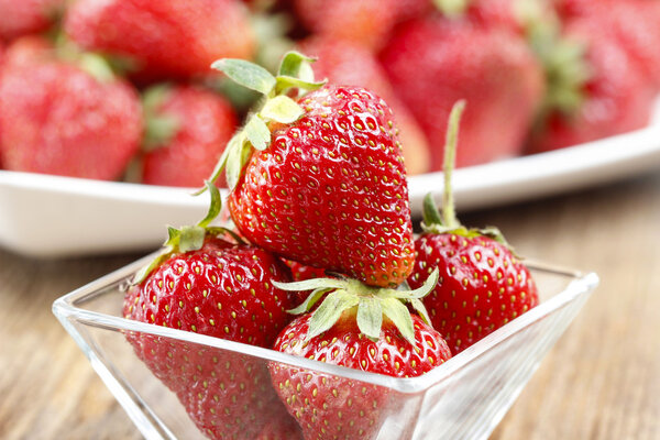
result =
M297 89L297 95L301 96L326 84L314 79L311 62L314 58L298 52L288 52L282 58L277 76L244 59L223 58L211 65L234 82L263 95L264 98L261 108L248 117L245 125L227 144L211 174L210 182L215 183L224 172L229 188L235 187L252 152L263 151L271 144L268 125L289 124L305 113L289 94L293 89ZM197 194L204 190L206 188Z

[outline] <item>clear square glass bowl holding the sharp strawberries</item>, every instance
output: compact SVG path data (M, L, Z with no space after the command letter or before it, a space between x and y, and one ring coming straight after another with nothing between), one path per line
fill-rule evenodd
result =
M121 317L123 292L148 258L151 256L72 292L53 305L62 324L147 439L201 439L206 437L202 431L207 430L228 437L230 432L242 432L240 438L255 438L254 427L267 424L266 414L280 405L270 385L268 366L306 370L315 378L336 381L343 398L359 399L360 389L377 389L386 397L381 400L375 422L365 439L485 439L598 284L594 273L528 263L539 287L539 306L433 371L419 377L396 378L124 319ZM209 381L217 381L215 385L220 384L224 389L224 384L231 384L235 374L240 374L237 367L248 369L255 382L265 373L267 389L262 388L265 392L250 405L240 396L239 403L237 396L229 394L220 398L213 396L217 406L213 410L224 411L229 417L219 413L217 419L206 425L195 422L179 400L187 397L177 397L138 356L129 342L136 340L157 341L160 346L169 346L179 356L189 353L212 359L217 367L204 372L200 369L195 375L196 384L190 386L199 387L199 392L193 391L199 397ZM147 358L142 352L142 359L150 362ZM213 405L209 399L205 405L209 403ZM267 432L268 428L264 429Z

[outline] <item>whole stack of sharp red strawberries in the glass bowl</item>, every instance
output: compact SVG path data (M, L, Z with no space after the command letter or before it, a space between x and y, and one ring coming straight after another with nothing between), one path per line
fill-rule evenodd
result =
M169 229L127 289L123 316L363 372L422 375L535 307L536 284L496 229L455 218L450 180L464 101L450 113L442 212L427 197L415 238L392 108L365 88L317 81L311 61L289 52L276 76L242 59L213 64L262 95L261 105L206 183L208 215ZM220 176L235 229L213 226ZM373 439L400 410L376 385L151 333L127 338L210 438Z

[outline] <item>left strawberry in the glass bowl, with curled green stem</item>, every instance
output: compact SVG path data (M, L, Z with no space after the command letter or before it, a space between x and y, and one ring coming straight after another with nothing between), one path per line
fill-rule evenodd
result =
M209 185L210 186L210 185ZM264 250L219 238L208 228L220 195L209 188L209 215L196 227L169 230L160 256L127 290L128 319L270 348L290 320L289 295L275 287L287 282L286 266ZM257 358L215 350L153 334L131 333L138 356L169 389L205 435L254 439L287 421Z

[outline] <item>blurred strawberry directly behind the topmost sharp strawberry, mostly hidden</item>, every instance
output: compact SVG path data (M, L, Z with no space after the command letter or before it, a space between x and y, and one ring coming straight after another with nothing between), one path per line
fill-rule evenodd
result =
M301 52L318 57L312 64L315 76L331 82L360 86L374 91L394 111L399 140L409 175L428 172L429 145L410 111L396 97L387 75L372 53L359 45L330 38L311 38L302 43Z

